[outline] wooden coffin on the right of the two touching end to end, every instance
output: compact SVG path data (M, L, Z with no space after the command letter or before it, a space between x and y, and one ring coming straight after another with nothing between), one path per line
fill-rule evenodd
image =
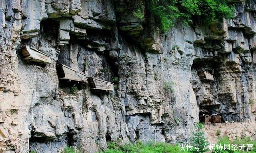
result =
M97 90L114 90L114 84L112 82L100 80L98 78L87 77L88 83L92 89Z

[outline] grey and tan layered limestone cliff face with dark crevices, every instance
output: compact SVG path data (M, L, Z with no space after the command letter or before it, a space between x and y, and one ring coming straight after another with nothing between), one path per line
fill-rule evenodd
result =
M145 22L132 15L143 4ZM256 4L235 18L159 32L147 4L126 0L0 1L0 152L94 153L106 141L188 141L203 114L254 122ZM51 63L24 61L33 47ZM64 64L114 91L58 79ZM207 71L214 80L200 80ZM70 88L76 84L73 94Z

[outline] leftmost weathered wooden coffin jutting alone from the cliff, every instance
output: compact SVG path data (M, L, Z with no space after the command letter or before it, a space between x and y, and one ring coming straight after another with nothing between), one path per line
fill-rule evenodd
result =
M42 64L51 63L51 58L49 56L27 45L21 48L21 52L23 59L27 62L37 62Z

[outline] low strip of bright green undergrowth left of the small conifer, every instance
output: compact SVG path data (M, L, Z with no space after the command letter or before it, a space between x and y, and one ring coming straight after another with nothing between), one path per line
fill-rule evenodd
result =
M142 143L137 141L136 144L126 143L119 144L116 142L108 143L108 149L103 153L189 153L188 151L180 151L177 145L168 143Z

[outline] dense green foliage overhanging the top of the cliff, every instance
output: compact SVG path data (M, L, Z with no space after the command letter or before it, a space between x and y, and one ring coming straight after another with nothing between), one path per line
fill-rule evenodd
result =
M228 0L150 0L150 10L162 31L173 27L175 22L210 24L233 16L234 7Z

